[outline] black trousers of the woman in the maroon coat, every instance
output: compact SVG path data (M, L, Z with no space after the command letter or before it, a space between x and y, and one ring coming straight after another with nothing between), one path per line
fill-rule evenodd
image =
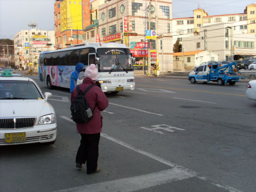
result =
M87 173L94 172L98 166L100 133L81 133L80 146L76 154L76 163L86 162Z

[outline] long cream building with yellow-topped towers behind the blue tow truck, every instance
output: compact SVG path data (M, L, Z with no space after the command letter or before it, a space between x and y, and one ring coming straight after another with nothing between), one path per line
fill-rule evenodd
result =
M239 39L243 38L247 39L246 42L255 42L255 20L256 4L247 5L244 13L237 14L209 15L207 12L205 12L205 10L198 8L194 10L194 17L173 19L173 44L177 41L177 39L179 39L181 43L184 44L184 49L186 51L205 49L216 52L218 49L215 49L213 47L219 46L221 48L219 48L217 52L220 54L219 59L223 60L232 59L236 57L235 55L240 55L237 56L236 59L238 59L239 57L244 57L247 54L255 55L256 53L254 52L254 43L252 44L253 47L251 47L251 44L250 47L248 47L247 45L236 45L236 42L239 42ZM225 30L229 31L229 39L227 39L228 37L226 37L227 34ZM215 33L215 31L218 32ZM221 37L220 34L222 35ZM196 37L197 35L199 35L200 38ZM210 36L211 39L209 39ZM184 42L185 38L186 42ZM198 39L197 45L199 46L200 43L204 44L204 46L190 46L190 44L187 43L188 41L190 41L189 39L191 41L193 39L193 41L196 41L196 39ZM201 42L199 42L199 39L201 39ZM231 39L233 42L231 42ZM217 42L218 45L216 45ZM213 49L211 50L211 48ZM233 51L231 51L231 49ZM233 53L234 50L239 50L239 52Z

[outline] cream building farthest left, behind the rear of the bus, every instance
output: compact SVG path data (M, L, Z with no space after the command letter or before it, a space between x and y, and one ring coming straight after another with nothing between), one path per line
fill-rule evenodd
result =
M38 69L40 52L54 49L54 31L21 30L14 36L15 66L23 69Z

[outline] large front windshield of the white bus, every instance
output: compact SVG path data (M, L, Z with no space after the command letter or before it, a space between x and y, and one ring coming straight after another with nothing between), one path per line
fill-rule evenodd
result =
M99 71L133 71L129 49L102 48L97 50L100 58Z

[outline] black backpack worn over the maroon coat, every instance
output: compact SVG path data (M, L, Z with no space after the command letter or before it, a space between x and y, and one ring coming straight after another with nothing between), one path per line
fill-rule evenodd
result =
M87 100L85 99L84 95L93 87L94 85L90 85L87 89L82 92L79 90L79 85L76 86L77 96L71 102L70 110L71 116L74 122L76 123L87 123L93 117L93 111L96 107L91 110L90 106L88 105Z

